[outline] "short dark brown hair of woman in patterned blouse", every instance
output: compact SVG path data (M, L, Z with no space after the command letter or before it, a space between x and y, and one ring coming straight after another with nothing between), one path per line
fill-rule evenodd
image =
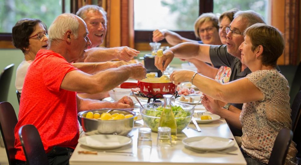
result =
M259 45L262 45L262 64L276 67L277 60L284 50L282 33L273 26L256 23L248 27L244 35L250 37L252 43L251 50L253 52Z

